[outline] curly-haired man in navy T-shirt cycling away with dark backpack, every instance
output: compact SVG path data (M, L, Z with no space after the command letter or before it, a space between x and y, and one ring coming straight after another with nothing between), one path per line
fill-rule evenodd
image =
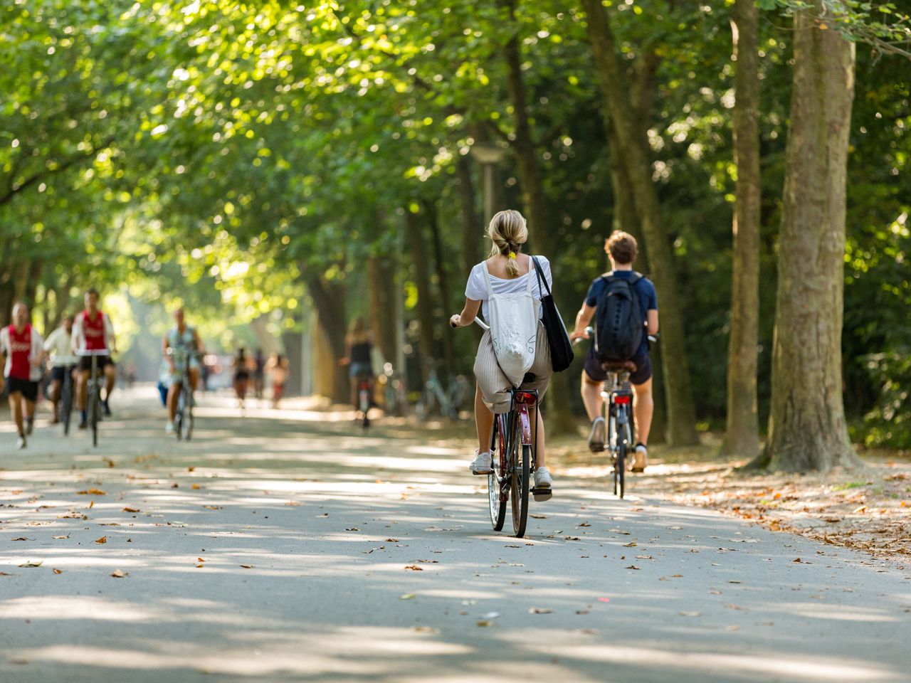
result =
M654 401L651 395L649 335L658 332L658 294L651 280L632 270L639 252L636 239L627 232L614 230L604 244L610 272L592 280L589 293L576 315L576 329L570 339L589 338L586 328L595 317L595 343L589 349L582 370L582 401L589 413L589 448L600 452L604 446L605 424L602 417L601 385L607 379L603 363L631 361L630 372L636 450L632 471L642 472L648 464L649 430Z

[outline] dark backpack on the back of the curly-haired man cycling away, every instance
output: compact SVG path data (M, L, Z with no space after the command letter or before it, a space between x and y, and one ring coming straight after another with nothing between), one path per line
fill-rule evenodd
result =
M645 316L635 287L642 275L633 273L630 280L602 277L607 287L598 297L595 313L595 353L602 362L629 361L639 351L645 332Z

